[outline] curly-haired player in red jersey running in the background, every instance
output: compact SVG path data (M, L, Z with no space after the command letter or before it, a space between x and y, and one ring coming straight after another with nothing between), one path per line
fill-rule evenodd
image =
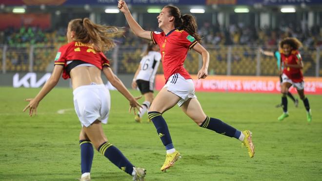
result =
M301 70L303 68L302 57L298 52L298 49L302 47L302 43L296 38L285 38L281 41L280 47L282 49L281 60L284 64L281 90L283 114L278 118L278 120L282 121L288 117L286 95L288 89L293 85L297 89L299 96L304 103L307 111L307 121L311 122L312 113L310 104L304 95L304 81Z

